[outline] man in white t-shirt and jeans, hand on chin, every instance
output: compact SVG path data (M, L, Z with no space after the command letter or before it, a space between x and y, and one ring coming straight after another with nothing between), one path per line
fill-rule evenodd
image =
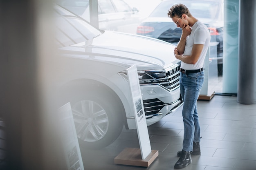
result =
M191 162L191 155L200 155L200 124L196 102L204 82L203 64L210 43L210 33L202 22L194 18L184 4L175 4L168 11L168 17L182 35L174 55L181 60L180 91L184 100L182 116L184 139L182 151L177 152L180 159L174 168L185 168ZM193 152L192 152L193 151Z

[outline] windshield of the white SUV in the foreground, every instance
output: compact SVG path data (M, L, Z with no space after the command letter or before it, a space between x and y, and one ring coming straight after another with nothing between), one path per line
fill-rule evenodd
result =
M55 6L56 42L58 47L70 46L97 37L101 31L73 13Z

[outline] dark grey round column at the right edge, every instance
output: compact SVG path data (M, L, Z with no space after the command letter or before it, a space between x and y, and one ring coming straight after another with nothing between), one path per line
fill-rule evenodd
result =
M256 103L256 1L239 0L238 97L241 104Z

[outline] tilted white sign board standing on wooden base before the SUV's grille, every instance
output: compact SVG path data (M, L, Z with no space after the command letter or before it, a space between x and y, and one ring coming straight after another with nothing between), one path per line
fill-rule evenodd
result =
M135 65L126 70L128 82L130 85L130 93L132 95L132 103L134 108L134 117L137 126L137 133L139 137L139 146L141 149L141 157L144 160L151 152L150 140L148 135L148 126L144 113L143 102L141 98L141 91L138 81L138 72Z

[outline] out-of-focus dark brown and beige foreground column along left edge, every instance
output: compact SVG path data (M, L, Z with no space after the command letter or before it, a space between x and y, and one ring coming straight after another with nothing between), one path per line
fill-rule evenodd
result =
M52 16L48 0L0 0L1 170L67 169L52 106Z

